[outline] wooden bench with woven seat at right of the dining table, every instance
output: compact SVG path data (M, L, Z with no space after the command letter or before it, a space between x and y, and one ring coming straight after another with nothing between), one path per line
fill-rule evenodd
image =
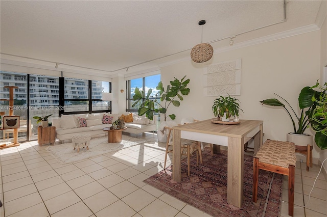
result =
M253 202L258 197L259 169L288 176L288 214L294 214L295 144L267 140L253 157Z

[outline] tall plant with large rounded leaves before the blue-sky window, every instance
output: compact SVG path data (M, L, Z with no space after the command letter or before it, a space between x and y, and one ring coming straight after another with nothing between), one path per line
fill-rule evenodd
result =
M161 113L165 116L166 121L166 114L168 107L173 104L174 106L179 106L180 101L183 100L183 96L186 96L190 93L190 88L187 88L188 84L190 83L190 79L184 80L186 75L181 79L178 80L176 77L175 80L170 82L170 85L167 86L166 90L162 86L161 81L158 83L156 89L159 91L155 94L155 98L150 97L152 93L152 89L148 90L146 94L144 91L140 91L138 88L134 90L133 100L133 107L141 102L141 106L138 108L138 115L146 115L150 120L153 120L153 113ZM157 97L160 97L160 102L157 101ZM180 101L179 101L180 100ZM168 115L172 120L176 118L174 114Z

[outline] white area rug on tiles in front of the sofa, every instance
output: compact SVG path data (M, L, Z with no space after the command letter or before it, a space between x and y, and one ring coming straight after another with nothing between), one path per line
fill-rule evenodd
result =
M95 157L101 154L109 152L119 151L124 148L132 147L138 144L144 144L146 140L137 139L135 137L129 137L128 135L122 135L122 142L120 143L108 143L108 137L95 138L90 140L88 150L80 148L80 152L77 153L77 149L74 150L73 143L64 143L46 148L48 152L54 156L60 164L67 164L71 162L77 162L86 158Z

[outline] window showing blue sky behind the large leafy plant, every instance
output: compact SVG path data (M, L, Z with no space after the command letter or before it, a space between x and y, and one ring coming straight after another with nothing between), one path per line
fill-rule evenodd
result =
M127 90L128 91L127 91L127 102L126 102L127 103L127 106L126 106L127 111L128 112L136 112L139 108L139 104L141 104L141 102L139 102L139 104L132 107L132 105L135 102L133 100L135 88L138 88L140 91L144 91L146 94L148 93L149 89L152 89L150 98L154 99L155 94L158 92L156 90L156 87L159 82L160 82L160 74L128 80L127 81ZM158 102L160 101L159 97L157 97L157 101Z

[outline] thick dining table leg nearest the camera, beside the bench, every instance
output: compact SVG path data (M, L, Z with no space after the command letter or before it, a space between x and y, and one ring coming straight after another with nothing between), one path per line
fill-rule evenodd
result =
M237 207L243 203L244 138L228 137L227 202Z

